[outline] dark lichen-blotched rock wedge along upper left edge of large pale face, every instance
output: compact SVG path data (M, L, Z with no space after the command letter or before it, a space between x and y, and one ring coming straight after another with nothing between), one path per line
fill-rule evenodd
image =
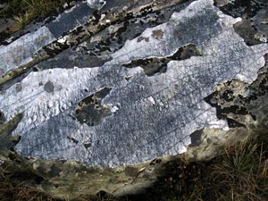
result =
M109 1L109 4L112 4L112 2ZM101 66L111 60L110 55L120 49L127 39L136 38L148 27L155 27L168 21L172 13L179 12L188 4L190 2L163 9L159 13L147 13L143 16L133 17L130 20L108 26L86 42L75 48L69 48L49 60L38 63L35 68L45 70L73 68L73 66L79 68Z

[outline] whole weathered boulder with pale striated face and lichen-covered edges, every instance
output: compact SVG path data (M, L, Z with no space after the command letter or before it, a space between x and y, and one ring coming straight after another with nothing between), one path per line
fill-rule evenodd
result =
M2 166L29 168L57 197L145 188L172 155L205 159L265 127L264 8L250 38L245 16L222 13L229 1L108 2L62 38L56 21L0 46Z

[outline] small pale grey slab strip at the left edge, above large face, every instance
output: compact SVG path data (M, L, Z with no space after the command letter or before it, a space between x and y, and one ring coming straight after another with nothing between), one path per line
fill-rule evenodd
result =
M56 38L45 26L30 32L7 46L0 46L0 71L5 74L32 61L34 54Z

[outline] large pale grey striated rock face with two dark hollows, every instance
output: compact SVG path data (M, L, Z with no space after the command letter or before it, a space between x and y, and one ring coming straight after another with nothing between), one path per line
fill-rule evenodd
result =
M21 135L16 151L116 167L185 152L196 130L228 130L205 96L226 80L255 80L268 53L265 44L246 45L233 29L237 21L214 7L214 1L198 0L138 37L147 40L128 40L103 66L29 73L19 91L13 85L0 96L6 120L23 113L13 130ZM138 66L122 67L132 60L172 55L188 44L202 56L171 61L162 74L148 77ZM75 108L102 88L112 88L101 101L112 115L95 126L80 123Z

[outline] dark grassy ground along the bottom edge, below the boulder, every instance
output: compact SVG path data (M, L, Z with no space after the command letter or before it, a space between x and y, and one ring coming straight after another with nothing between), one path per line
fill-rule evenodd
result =
M164 164L164 175L155 186L138 197L169 201L264 201L268 200L268 145L263 142L238 143L212 161L204 163L175 160ZM0 177L2 200L56 200L23 183L13 183L7 174ZM128 197L132 200L133 197ZM135 198L135 197L134 197ZM68 200L68 199L67 199ZM78 201L115 201L111 196L80 197ZM138 200L137 198L135 200Z

